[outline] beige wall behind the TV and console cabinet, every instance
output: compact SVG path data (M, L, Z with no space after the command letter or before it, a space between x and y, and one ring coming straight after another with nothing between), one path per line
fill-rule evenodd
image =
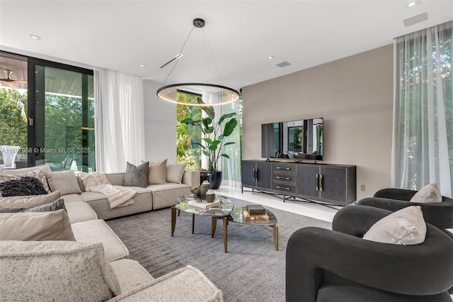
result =
M246 86L243 160L261 158L262 123L323 117L323 162L357 166L360 200L390 186L392 114L392 45Z

